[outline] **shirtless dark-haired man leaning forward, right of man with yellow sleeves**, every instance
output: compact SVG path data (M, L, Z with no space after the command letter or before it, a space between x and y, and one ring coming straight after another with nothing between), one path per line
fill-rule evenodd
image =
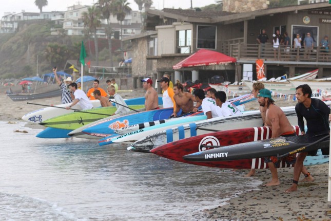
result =
M184 86L179 80L177 80L177 83L173 85L173 99L176 102L176 109L174 109L174 112L172 113L170 118L176 117L180 109L182 109L183 115L192 111L197 112L198 107L201 106L201 103L197 102L197 105L193 107L193 102L196 101L196 99L191 93L184 92L183 90Z

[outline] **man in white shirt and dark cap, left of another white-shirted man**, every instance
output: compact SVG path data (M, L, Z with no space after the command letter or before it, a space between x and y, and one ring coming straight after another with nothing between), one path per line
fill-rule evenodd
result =
M196 97L197 102L201 103L202 111L207 116L207 119L219 117L216 101L212 98L205 98L203 89L194 90L193 95Z

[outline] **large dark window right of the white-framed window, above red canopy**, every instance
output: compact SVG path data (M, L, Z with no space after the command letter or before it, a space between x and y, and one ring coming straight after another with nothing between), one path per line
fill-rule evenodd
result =
M197 48L216 49L216 26L198 25Z

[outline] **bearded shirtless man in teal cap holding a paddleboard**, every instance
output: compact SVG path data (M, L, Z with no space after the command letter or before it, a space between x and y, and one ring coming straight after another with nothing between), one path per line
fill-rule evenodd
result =
M293 126L289 123L282 109L274 104L275 101L271 98L270 90L265 88L261 89L258 94L258 102L260 106L266 109L264 126L269 126L272 130L271 138L296 136ZM282 159L278 160L276 156L265 158L264 162L268 163L272 179L264 186L277 186L280 184L275 164L279 163L281 160ZM295 164L296 155L288 155L285 157L285 160L288 164ZM306 168L303 168L302 172L304 174L308 173Z

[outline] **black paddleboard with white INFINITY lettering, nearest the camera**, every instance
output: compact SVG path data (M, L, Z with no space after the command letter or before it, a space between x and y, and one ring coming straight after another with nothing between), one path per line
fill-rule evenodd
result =
M228 161L279 156L329 148L329 132L293 137L278 137L197 152L183 156L188 161ZM217 146L215 146L217 147Z

